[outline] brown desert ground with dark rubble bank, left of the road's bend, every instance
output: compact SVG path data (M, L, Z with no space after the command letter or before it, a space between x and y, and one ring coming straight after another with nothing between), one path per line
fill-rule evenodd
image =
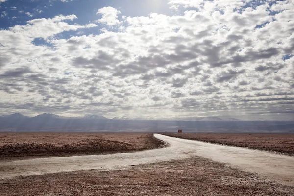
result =
M0 158L120 153L164 147L151 133L0 133Z

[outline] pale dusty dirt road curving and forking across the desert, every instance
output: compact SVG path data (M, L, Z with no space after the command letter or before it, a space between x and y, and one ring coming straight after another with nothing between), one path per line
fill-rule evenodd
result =
M117 170L128 168L131 165L201 156L244 171L264 175L285 185L294 186L294 157L159 134L154 134L154 136L169 143L170 146L134 153L0 161L0 179L76 170Z

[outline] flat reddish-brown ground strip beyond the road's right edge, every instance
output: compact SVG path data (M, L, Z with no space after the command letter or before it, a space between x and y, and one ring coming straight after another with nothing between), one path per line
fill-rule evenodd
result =
M243 133L162 133L163 135L223 144L235 147L266 150L294 156L294 134Z

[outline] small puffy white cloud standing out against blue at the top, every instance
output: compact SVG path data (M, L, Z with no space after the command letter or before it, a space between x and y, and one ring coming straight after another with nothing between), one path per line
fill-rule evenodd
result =
M118 15L121 12L113 7L103 7L98 10L96 14L101 14L102 18L97 20L99 23L104 23L109 26L119 25L121 22L118 20Z

